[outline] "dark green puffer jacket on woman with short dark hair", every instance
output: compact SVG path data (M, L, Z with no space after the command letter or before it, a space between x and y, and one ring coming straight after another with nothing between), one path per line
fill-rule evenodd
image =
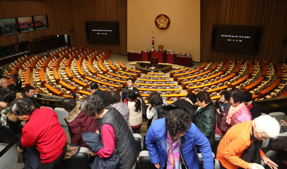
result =
M210 101L206 107L195 112L195 125L207 137L211 148L215 141L215 124L215 111L213 102Z

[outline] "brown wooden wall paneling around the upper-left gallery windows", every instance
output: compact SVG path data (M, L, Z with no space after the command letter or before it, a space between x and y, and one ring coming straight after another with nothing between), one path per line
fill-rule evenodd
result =
M47 36L69 34L72 25L70 6L70 0L62 0L61 3L56 0L0 1L0 17L12 18L47 14L50 28L25 32L27 40L32 41L42 34ZM0 46L12 43L17 43L16 34L0 37Z

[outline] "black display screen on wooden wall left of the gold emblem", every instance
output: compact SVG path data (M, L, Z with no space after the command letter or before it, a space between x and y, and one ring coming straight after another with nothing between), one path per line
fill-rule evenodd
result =
M85 21L87 42L89 43L120 43L118 21Z

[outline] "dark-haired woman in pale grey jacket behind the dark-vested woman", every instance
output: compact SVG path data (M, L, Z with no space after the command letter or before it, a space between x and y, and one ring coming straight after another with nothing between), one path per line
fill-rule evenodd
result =
M127 104L121 101L120 93L117 90L110 90L107 94L106 101L110 104L111 107L116 108L122 114L123 118L127 122L128 128L132 131L132 127L128 123L130 111L127 107Z

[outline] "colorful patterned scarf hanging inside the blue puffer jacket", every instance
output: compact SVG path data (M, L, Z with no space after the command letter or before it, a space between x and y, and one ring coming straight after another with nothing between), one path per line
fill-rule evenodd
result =
M180 160L179 160L179 144L178 141L181 139L179 137L174 142L169 134L169 131L166 133L166 141L169 144L168 156L167 156L167 167L166 169L181 169Z

